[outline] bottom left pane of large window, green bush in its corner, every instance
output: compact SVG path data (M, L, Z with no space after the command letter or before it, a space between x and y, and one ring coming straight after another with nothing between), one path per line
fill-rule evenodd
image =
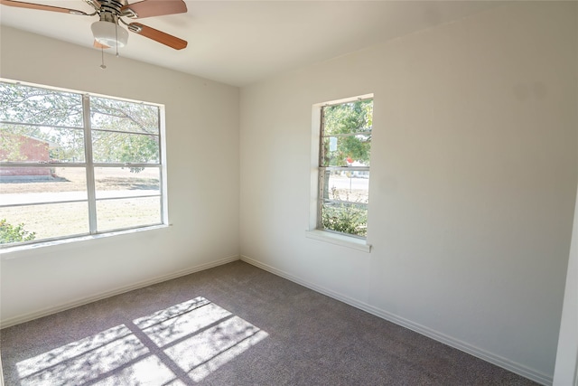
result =
M89 232L87 202L0 208L0 244L45 240ZM6 231L9 230L9 231Z

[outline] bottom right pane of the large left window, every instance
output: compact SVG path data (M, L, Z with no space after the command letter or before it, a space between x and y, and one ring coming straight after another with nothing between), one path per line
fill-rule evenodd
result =
M143 197L97 201L98 231L160 224L161 198Z

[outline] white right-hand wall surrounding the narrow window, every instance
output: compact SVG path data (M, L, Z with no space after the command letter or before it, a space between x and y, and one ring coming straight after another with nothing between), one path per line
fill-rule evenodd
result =
M241 89L243 259L550 383L577 4L527 2ZM374 93L371 253L305 238L312 105Z

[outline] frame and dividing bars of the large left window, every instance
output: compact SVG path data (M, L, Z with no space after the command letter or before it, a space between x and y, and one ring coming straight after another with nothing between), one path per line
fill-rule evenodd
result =
M167 173L167 166L166 166L166 136L165 136L165 116L164 116L164 105L154 102L145 102L141 100L134 100L134 99L126 99L126 98L119 98L114 96L102 95L93 92L86 92L86 91L79 91L74 89L62 89L51 87L47 85L31 83L31 82L24 82L20 80L9 80L5 78L0 78L0 82L6 84L14 84L14 85L22 85L26 87L36 88L36 89L47 89L53 92L61 92L61 93L71 93L79 95L81 98L81 106L82 106L82 127L68 127L68 126L59 126L59 125L51 125L51 124L37 124L37 123L26 123L26 122L10 122L10 121L0 121L2 124L14 124L18 126L37 126L37 127L53 127L53 128L74 128L78 129L83 133L83 150L84 150L84 162L12 162L12 161L2 161L0 162L0 167L6 169L12 169L16 167L34 167L34 168L55 168L55 167L70 167L70 168L85 168L86 171L86 186L84 192L86 193L86 199L77 199L77 200L64 200L64 201L50 201L50 202L29 202L29 203L15 203L15 204L1 204L0 207L23 207L23 206L35 206L35 205L43 205L43 204L61 204L61 203L72 203L72 202L86 202L88 208L88 218L89 218L89 231L88 232L80 232L76 234L69 234L63 236L55 236L50 238L43 238L40 240L28 240L28 241L19 241L14 243L7 243L7 244L0 244L0 249L2 250L12 250L12 249L30 249L35 248L42 245L54 245L60 244L61 242L70 242L74 240L87 240L94 237L102 237L102 236L109 236L115 234L122 234L126 232L134 232L134 231L145 231L149 229L157 229L163 228L169 225L168 221L168 198L167 198L167 181L166 181L166 173ZM158 127L154 127L155 130L158 128L158 134L146 134L146 133L139 133L135 131L118 131L122 134L130 135L130 136L153 136L158 137L158 162L148 162L148 163L123 163L123 162L94 162L93 160L93 142L92 142L92 134L94 131L105 131L102 128L93 128L91 119L90 119L90 98L98 98L98 99L111 99L117 100L127 103L134 103L134 104L141 104L152 106L157 108L158 111ZM111 132L117 132L115 130L106 130ZM109 198L98 198L97 193L97 181L95 178L95 170L98 168L103 169L114 169L118 167L143 167L143 168L154 168L158 169L159 175L159 189L158 193L150 194L150 195L126 195L126 196L116 196L116 197L109 197ZM97 224L97 202L99 201L107 201L107 200L125 200L125 199L135 199L135 198L151 198L157 197L159 200L159 221L158 222L150 222L146 224L138 224L138 225L130 225L124 227L118 227L114 229L106 229L103 231L98 230ZM102 229L102 228L101 228Z

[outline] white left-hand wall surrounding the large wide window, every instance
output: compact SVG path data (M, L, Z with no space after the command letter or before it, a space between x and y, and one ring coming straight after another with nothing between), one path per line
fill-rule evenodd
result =
M172 227L4 254L4 325L156 278L238 259L238 88L12 28L0 76L166 108ZM14 259L13 259L14 258Z

